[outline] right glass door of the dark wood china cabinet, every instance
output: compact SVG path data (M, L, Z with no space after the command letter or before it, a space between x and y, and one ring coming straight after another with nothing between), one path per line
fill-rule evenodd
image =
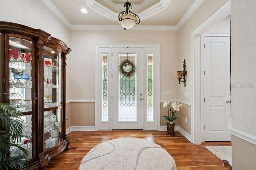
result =
M62 95L61 53L44 46L44 149L62 141Z

